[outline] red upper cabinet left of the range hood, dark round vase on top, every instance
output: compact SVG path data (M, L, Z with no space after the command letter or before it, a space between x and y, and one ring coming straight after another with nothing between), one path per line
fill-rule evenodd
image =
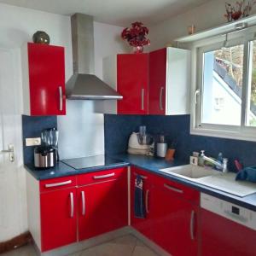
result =
M64 48L28 43L22 61L24 113L66 114Z

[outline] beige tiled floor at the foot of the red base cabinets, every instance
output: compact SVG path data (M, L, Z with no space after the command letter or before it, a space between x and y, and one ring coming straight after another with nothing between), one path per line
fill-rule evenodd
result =
M15 251L3 253L1 256L35 256L32 245L20 247ZM158 256L135 236L127 235L102 243L69 256Z

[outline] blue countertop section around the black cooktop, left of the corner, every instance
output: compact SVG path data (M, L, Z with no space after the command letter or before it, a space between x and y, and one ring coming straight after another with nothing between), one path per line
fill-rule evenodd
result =
M89 157L91 162L91 158ZM26 168L27 172L30 172L33 177L35 177L37 180L44 180L49 178L55 178L55 177L65 177L70 175L77 175L82 173L89 173L89 172L97 172L97 171L103 171L113 168L119 168L129 166L129 163L123 161L123 160L116 160L110 157L106 157L105 164L102 166L90 166L86 168L81 168L79 170L74 169L72 166L68 166L67 164L63 163L62 161L59 161L55 167L48 168L48 169L40 169L34 167L33 164L25 164L24 167Z

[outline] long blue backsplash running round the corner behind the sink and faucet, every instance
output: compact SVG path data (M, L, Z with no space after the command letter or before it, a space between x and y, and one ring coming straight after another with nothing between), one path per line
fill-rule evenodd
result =
M256 143L219 137L203 137L189 134L189 115L177 116L129 116L105 114L105 153L126 152L128 138L139 125L146 125L152 135L164 134L167 142L177 142L176 158L188 160L193 151L206 150L207 156L217 157L219 152L229 158L230 171L235 171L234 160L245 166L256 166Z

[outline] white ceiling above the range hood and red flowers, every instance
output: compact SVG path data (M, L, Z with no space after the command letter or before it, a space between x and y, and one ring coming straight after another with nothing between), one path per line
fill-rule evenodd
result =
M0 0L15 6L60 15L83 13L96 21L129 26L139 20L152 26L211 0Z

